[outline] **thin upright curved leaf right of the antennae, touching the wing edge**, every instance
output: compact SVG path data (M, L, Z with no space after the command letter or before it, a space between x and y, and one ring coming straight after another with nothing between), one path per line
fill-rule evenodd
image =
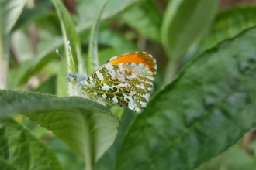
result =
M98 14L95 16L95 20L92 25L89 49L88 49L88 73L92 73L94 70L99 68L99 59L98 59L98 31L99 24L102 17L102 12L109 0L106 0L105 3L99 8Z

